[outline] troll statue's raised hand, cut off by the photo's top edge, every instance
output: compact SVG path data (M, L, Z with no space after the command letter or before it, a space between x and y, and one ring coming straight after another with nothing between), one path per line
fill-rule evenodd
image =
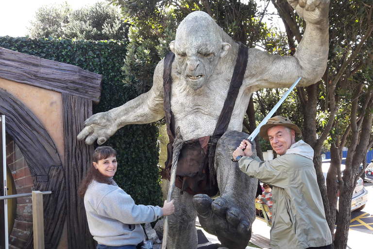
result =
M288 0L301 18L307 23L323 24L328 22L330 0Z

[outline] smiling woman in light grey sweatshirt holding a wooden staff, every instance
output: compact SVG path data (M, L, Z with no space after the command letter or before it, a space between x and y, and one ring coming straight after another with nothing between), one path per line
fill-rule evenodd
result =
M136 249L145 233L141 223L150 223L174 212L174 200L158 206L136 205L113 177L117 171L117 152L109 146L96 148L92 164L78 194L84 197L89 231L97 249Z

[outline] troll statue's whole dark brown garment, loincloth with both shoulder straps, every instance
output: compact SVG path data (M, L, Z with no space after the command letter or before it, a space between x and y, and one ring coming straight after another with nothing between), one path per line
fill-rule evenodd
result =
M186 191L191 195L207 194L209 196L214 196L218 193L218 186L215 180L216 173L214 170L216 144L228 128L247 65L248 49L242 43L238 44L239 51L236 66L231 79L227 98L225 99L224 107L220 113L218 124L213 136L186 141L184 142L183 148L180 152L175 185L180 188L181 191ZM172 143L175 137L175 121L170 105L170 88L172 84L171 66L174 57L175 54L172 52L166 54L163 64L165 118L167 133L170 138L170 143L167 145L168 156L165 164L168 179L170 179Z

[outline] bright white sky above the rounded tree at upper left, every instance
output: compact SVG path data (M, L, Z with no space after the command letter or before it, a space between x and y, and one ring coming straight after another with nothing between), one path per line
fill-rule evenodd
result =
M72 9L93 5L99 0L0 0L0 36L26 36L37 8L67 1Z

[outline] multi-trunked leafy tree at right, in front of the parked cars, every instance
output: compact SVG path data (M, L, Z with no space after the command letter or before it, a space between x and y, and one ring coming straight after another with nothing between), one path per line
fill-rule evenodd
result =
M304 23L283 0L271 0L284 20L290 48L302 38ZM347 246L351 199L357 169L372 146L372 0L331 2L329 61L322 81L297 93L304 113L305 142L315 150L314 164L328 224L334 233L336 202L339 218L334 248ZM322 129L318 129L322 125ZM317 137L316 134L319 133ZM327 191L321 169L325 140L331 144ZM346 168L341 176L342 147L348 146ZM338 182L337 182L338 176Z

